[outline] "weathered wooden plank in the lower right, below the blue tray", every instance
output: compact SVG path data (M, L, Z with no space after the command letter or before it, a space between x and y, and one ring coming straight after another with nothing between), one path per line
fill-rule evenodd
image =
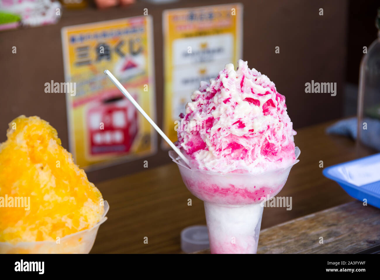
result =
M376 245L380 209L353 201L261 230L257 253L352 254Z

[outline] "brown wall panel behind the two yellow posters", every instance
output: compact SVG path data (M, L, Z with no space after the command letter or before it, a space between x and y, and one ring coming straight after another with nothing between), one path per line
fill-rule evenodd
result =
M342 115L345 75L348 5L345 0L282 1L242 0L244 4L243 59L275 82L287 98L294 128ZM65 96L44 93L44 83L64 81L60 30L63 26L142 15L148 8L153 16L158 125L162 124L163 59L161 14L168 8L233 3L225 0L180 1L166 5L138 2L127 8L63 11L53 26L11 30L0 33L0 142L13 118L38 115L53 125L68 147ZM319 16L319 8L324 15ZM17 53L12 54L12 46ZM280 53L275 54L275 46ZM230 61L226 61L228 63ZM234 61L236 63L236 61ZM336 82L337 96L306 94L305 83ZM189 93L190 96L190 93ZM296 138L297 141L297 138ZM158 139L158 144L161 139ZM160 147L160 146L159 146ZM169 162L166 151L136 162L90 172L97 182Z

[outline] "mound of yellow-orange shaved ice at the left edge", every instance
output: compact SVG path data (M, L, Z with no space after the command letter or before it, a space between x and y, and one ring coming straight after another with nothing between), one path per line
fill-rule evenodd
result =
M75 165L48 122L22 115L9 123L6 135L0 144L0 242L55 243L57 237L100 221L100 191ZM11 207L9 197L15 198ZM30 209L14 207L16 197L30 197Z

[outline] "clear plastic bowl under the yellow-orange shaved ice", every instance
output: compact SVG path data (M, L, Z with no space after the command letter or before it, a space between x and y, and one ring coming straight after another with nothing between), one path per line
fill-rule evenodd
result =
M95 242L99 226L107 220L108 202L104 202L104 213L97 224L90 229L81 230L54 241L19 242L11 244L0 242L1 254L88 254Z

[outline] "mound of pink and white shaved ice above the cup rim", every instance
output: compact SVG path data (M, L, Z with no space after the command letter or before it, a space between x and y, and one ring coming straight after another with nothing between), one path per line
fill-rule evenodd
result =
M259 174L296 161L296 131L285 96L266 75L239 60L201 86L181 118L199 130L178 130L178 146L192 168L218 173Z

